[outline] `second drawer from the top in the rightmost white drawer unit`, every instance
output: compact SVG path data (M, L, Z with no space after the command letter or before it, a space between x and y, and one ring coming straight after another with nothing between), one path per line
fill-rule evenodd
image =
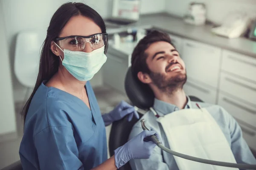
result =
M256 104L256 84L253 82L248 82L230 74L221 73L220 91Z

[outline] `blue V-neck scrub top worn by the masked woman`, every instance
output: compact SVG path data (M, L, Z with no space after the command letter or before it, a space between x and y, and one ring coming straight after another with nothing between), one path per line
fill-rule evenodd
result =
M67 92L36 91L20 144L24 170L90 170L107 159L105 125L90 83L85 88L91 110Z

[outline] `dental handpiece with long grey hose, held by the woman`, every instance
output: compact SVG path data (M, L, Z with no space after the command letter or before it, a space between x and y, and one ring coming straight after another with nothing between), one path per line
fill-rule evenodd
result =
M149 130L145 126L145 120L144 119L141 119L140 122L141 122L141 126L142 126L143 130ZM183 154L183 153L175 152L175 151L170 150L169 148L163 146L163 144L157 139L157 136L155 136L155 135L145 137L143 140L145 142L148 142L148 141L151 140L158 147L160 147L160 149L162 149L162 150L166 151L167 153L170 153L174 156L178 156L180 158L183 158L183 159L188 159L188 160L191 160L191 161L201 162L201 163L204 163L204 164L218 165L218 166L222 166L222 167L235 167L235 168L239 168L239 169L256 170L256 164L234 164L234 163L222 162L222 161L212 161L212 160L209 160L209 159L201 159L201 158L197 158L197 157L194 157L194 156L189 156L189 155L186 155L186 154Z

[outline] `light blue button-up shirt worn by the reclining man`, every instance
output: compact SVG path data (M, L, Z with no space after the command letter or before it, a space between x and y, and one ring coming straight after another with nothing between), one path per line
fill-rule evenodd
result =
M189 97L187 97L187 99L188 102L185 109L198 108L196 102L191 102ZM256 159L251 153L247 143L244 141L241 127L236 120L227 113L224 108L221 108L218 105L211 105L203 102L197 103L201 105L202 108L206 108L220 126L224 136L227 138L227 142L231 147L237 163L256 164ZM179 110L175 105L171 105L158 99L154 100L154 109L164 115ZM161 135L163 145L170 148L163 129L159 127L156 121L157 117L155 117L151 111L148 111L141 119L145 119L145 125L147 127L153 127L154 130ZM138 121L131 130L129 139L142 131L141 123ZM134 159L129 162L133 170L179 170L173 155L164 152L159 147L155 147L150 159Z

